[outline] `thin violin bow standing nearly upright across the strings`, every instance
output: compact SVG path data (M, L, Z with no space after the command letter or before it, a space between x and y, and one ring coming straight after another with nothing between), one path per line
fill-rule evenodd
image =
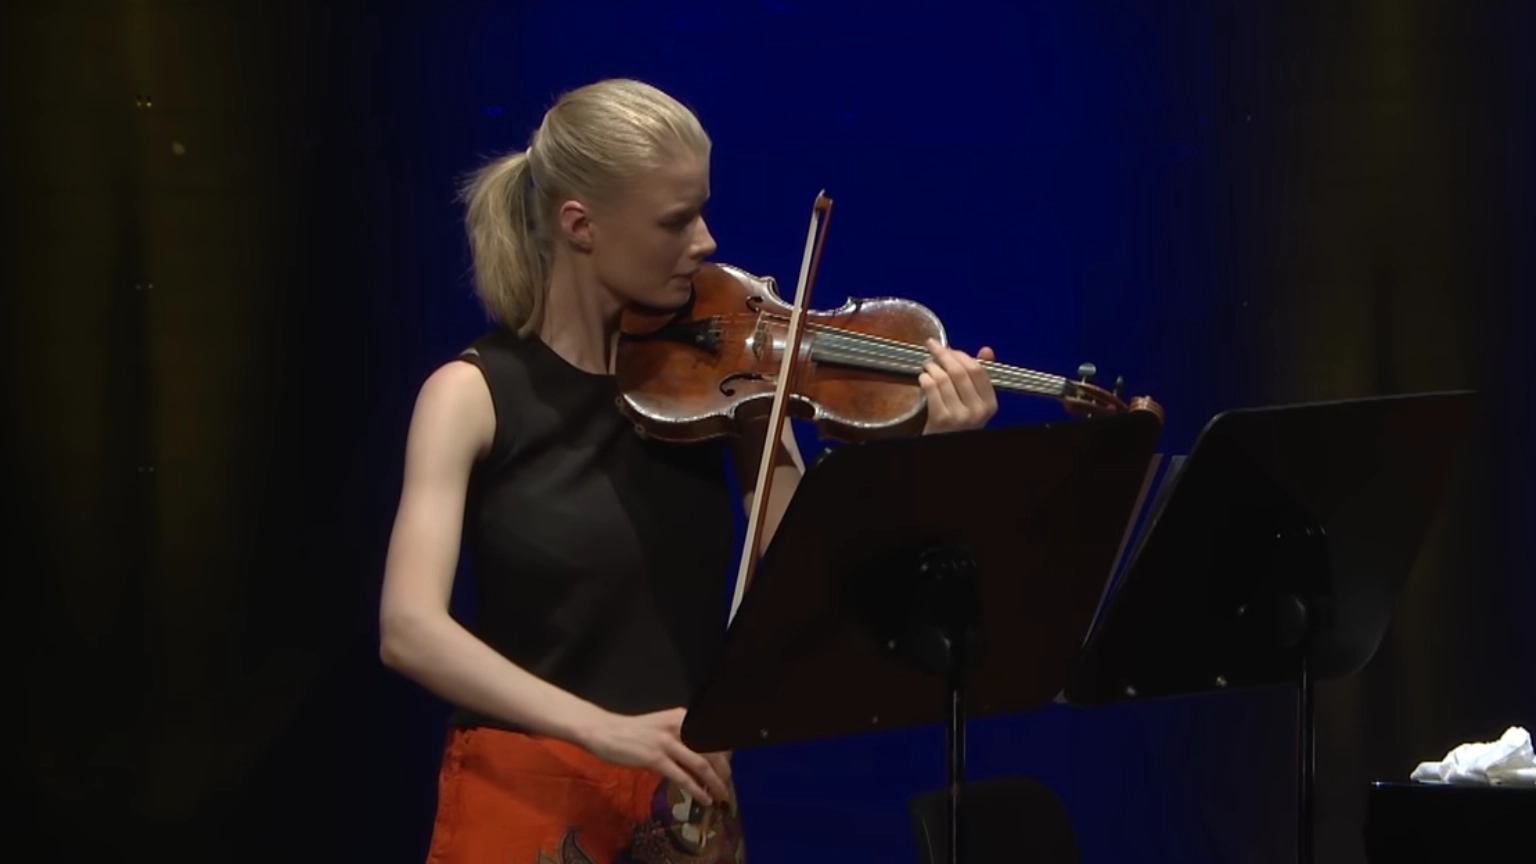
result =
M753 493L753 512L746 518L746 540L742 543L742 560L736 570L736 592L731 596L731 615L727 624L736 620L736 610L742 606L746 584L757 570L757 560L762 555L763 524L768 518L768 497L773 492L774 449L783 437L786 407L793 387L791 377L796 369L796 358L800 355L800 334L805 309L811 304L811 286L816 283L816 269L822 261L822 243L826 238L826 223L833 217L833 200L826 191L816 194L816 204L811 206L811 224L805 232L805 255L800 258L800 281L794 289L794 304L790 307L790 332L783 340L783 355L779 358L779 380L773 394L773 409L768 412L768 434L763 438L763 452L757 461L757 486Z

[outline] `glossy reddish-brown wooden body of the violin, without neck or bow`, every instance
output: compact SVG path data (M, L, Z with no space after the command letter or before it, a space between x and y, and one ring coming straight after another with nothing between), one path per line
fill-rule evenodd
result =
M682 309L625 312L616 358L621 409L639 432L668 441L734 435L739 423L766 418L790 314L773 277L705 263ZM925 340L945 343L937 315L882 297L806 309L803 326L785 397L790 417L839 441L922 430L926 398L917 374L929 355ZM909 347L891 351L874 340Z

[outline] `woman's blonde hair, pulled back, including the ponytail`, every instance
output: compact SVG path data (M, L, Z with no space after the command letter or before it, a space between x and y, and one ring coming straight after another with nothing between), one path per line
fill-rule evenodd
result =
M596 81L559 97L528 148L488 161L461 191L475 292L501 326L527 335L544 318L561 201L611 200L648 169L710 157L693 111L651 85Z

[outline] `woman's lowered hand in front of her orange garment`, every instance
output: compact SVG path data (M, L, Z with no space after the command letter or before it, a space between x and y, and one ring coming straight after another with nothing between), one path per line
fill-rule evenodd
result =
M637 716L605 712L601 721L582 732L578 744L601 759L656 770L703 806L730 798L730 759L723 753L694 753L684 746L685 713L687 709Z

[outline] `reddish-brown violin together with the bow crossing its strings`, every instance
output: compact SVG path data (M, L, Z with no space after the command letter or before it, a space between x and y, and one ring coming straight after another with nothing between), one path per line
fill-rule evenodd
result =
M794 303L783 300L773 277L708 263L694 274L682 307L625 309L619 327L619 410L641 435L700 441L766 420L733 620L762 553L771 455L786 418L808 420L822 437L842 441L915 435L926 423L919 374L932 354L925 343L948 344L938 317L912 300L849 297L839 309L809 311L831 206L825 192L817 194ZM1160 426L1164 420L1149 397L1123 401L1120 383L1114 390L1092 384L1089 364L1074 381L978 363L995 389L1055 398L1077 415L1149 412Z

